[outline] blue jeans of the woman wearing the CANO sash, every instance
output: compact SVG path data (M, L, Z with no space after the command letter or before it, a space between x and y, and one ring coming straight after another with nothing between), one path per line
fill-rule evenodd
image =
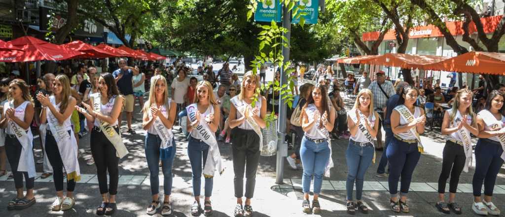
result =
M207 143L189 136L188 156L191 164L191 171L193 172L193 195L195 197L200 196L201 173L203 173L208 153L209 145ZM213 182L212 178L205 178L206 197L212 195Z

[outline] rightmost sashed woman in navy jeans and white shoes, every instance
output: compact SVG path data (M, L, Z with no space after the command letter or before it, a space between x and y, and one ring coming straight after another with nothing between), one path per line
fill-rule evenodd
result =
M477 115L479 140L475 147L475 173L472 180L474 202L472 209L477 214L499 215L500 210L491 202L496 176L505 159L504 96L497 90L487 96L484 110ZM484 199L481 198L484 184Z

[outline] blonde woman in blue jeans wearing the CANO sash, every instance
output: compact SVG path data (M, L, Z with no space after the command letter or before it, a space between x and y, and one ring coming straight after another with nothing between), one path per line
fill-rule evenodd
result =
M216 164L219 164L218 171L221 173L220 155L216 156L217 140L215 133L218 130L220 120L219 104L214 98L212 85L208 81L200 81L196 85L194 103L186 107L187 111L187 131L188 156L193 174L193 195L194 202L191 206L191 214L199 216L202 212L200 205L200 185L201 175L205 177L205 202L203 213L205 216L212 214L211 196L213 187L213 176ZM219 162L214 157L219 157ZM214 164L214 162L216 164ZM208 173L210 171L210 174Z

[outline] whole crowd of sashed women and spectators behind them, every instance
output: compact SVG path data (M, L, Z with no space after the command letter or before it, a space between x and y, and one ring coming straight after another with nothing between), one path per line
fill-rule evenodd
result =
M79 65L78 69L73 76L43 75L34 95L22 79L0 81L0 126L5 129L0 133L0 175L6 175L7 158L17 191L8 209L24 209L35 203L36 174L30 130L35 119L44 150L44 157L40 159L44 164L42 178L54 177L56 199L51 209L68 210L75 204L74 191L81 178L78 139L89 131L92 158L86 163L96 167L102 196L95 213L113 214L117 210L119 159L128 154L121 138L121 117L126 116L126 133L136 134L132 129L132 116L137 98L142 105L145 157L150 172L152 201L146 213L154 214L159 209L162 215L172 213L172 165L177 148L180 148L172 128L179 125L188 132L186 144L194 196L191 214L209 216L213 213L213 177L224 169L218 141L224 140L232 144L234 216L252 215L256 174L263 150L261 129L267 126L268 111L278 111L280 97L279 90L273 86L260 92L262 70L266 69L261 68L259 76L246 72L242 81L227 63L217 74L212 65L199 70L204 75L201 81L188 77L190 72L185 66L175 68L173 73L176 72L177 77L174 78L168 79L172 73L169 71L164 76L161 69L155 69L148 77L138 67L128 66L124 59L118 61L118 69L112 73L98 74L96 68L85 65ZM293 153L287 156L287 162L292 169L302 167L303 170L302 211L321 212L319 194L323 176L329 176L333 167L331 140L342 138L348 139L345 151L347 212L370 212L363 202L362 192L365 173L378 156L376 151L383 151L377 176L388 179L391 210L410 212L407 201L410 183L424 151L420 138L427 120L424 104L448 100L436 86L439 83L434 90L429 81L424 81L422 88L416 87L418 83L411 86L403 81L393 85L383 71L376 72L374 80L370 80L368 73L363 73L358 81L349 77L347 85L352 84L356 99L346 111L338 81L331 84L332 68L318 69L316 75L319 77L317 84L309 82L299 87L287 117L288 129L295 136ZM279 79L280 73L276 73L274 80ZM144 82L149 83L145 102ZM448 137L438 181L436 207L439 211L462 213L462 207L456 202L456 190L461 172L467 172L471 162L473 144L470 138L474 135L479 139L475 147L472 210L477 214L500 214L491 200L497 174L505 159L504 92L505 85L498 85L497 90L490 92L479 87L474 90L451 88L447 93L451 96L451 106L440 110L441 133ZM477 110L472 105L474 95L479 97ZM255 96L258 97L256 101ZM485 100L481 103L482 97ZM385 142L381 138L382 129ZM160 165L164 175L163 199L160 198ZM201 176L205 178L203 197ZM449 200L445 202L445 184L449 176ZM64 179L67 180L66 192Z

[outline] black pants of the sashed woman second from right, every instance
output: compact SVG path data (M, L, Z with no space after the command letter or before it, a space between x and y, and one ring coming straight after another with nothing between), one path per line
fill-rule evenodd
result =
M438 178L438 193L445 193L445 183L450 175L449 192L456 193L460 175L465 166L465 150L463 146L451 141L445 142L443 148L442 172Z

